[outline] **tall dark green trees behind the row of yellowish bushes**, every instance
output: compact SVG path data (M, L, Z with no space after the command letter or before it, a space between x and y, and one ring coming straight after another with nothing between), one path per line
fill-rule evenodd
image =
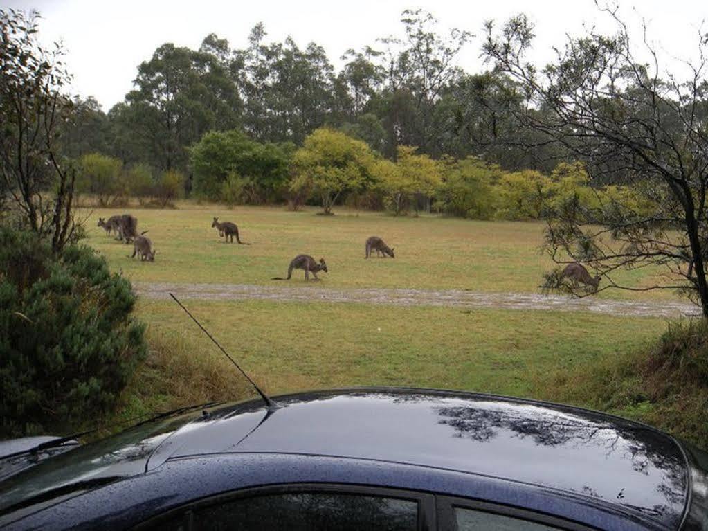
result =
M189 148L207 132L241 130L287 151L329 127L387 159L415 146L433 159L476 156L508 171L552 171L562 154L534 142L537 133L514 118L523 91L508 77L455 67L467 32L442 34L423 11L405 11L401 22L403 37L348 50L339 72L319 45L268 42L261 24L241 50L213 34L198 50L164 44L107 114L91 98L75 102L62 126L64 153L179 171L189 192Z

